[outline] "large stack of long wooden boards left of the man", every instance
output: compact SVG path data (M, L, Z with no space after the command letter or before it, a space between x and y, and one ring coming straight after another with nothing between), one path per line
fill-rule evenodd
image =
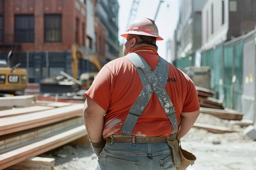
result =
M0 110L0 170L87 135L83 104L27 99L23 107Z

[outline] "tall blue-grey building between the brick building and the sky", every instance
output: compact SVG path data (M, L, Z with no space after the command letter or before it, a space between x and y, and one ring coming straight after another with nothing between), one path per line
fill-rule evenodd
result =
M106 28L106 60L115 60L119 56L118 10L117 0L98 0L96 16Z

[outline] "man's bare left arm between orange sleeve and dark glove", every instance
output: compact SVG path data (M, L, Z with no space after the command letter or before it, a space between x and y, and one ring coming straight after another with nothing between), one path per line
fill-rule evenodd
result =
M85 101L83 119L91 142L97 143L102 139L104 115L106 111L90 97Z

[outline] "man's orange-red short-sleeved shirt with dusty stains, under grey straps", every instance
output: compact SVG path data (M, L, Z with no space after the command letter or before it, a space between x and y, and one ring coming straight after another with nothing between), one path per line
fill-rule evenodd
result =
M158 53L154 48L134 49L155 69ZM177 121L180 124L182 112L199 110L198 96L191 79L178 68L169 64L166 91L175 106ZM142 83L135 66L125 57L108 62L95 78L92 86L85 92L101 108L106 110L104 116L103 137L120 135L120 130L128 112L142 90ZM97 113L95 113L97 114ZM150 98L144 112L139 117L132 135L137 137L158 137L170 135L173 131L155 93Z

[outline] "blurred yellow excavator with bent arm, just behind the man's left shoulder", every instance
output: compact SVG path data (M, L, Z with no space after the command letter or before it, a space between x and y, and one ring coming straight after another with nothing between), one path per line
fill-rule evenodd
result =
M79 59L88 60L98 70L97 72L92 72L92 73L82 73L79 76L79 81L82 83L81 89L88 89L90 88L97 73L101 70L101 64L99 63L99 60L96 55L85 54L83 49L81 49L75 44L72 45L71 51L72 51L72 74L75 79L78 78L77 73L78 73Z

